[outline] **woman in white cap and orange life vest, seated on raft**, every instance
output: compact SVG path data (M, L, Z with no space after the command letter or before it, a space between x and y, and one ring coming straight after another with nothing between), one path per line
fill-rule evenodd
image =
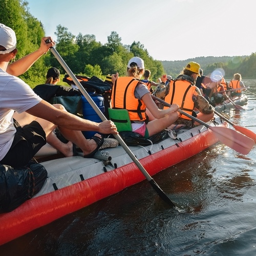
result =
M152 99L150 91L140 79L144 74L144 61L133 57L127 65L127 76L112 75L113 88L111 104L113 109L126 109L132 122L133 132L148 138L164 129L172 130L179 117L179 106L160 110ZM182 127L180 125L178 128Z

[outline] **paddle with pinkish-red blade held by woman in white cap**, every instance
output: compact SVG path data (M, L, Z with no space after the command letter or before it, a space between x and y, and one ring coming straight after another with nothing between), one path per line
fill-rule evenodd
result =
M159 101L160 103L164 104L165 106L171 106L169 103L165 102L162 99L159 99L158 97L151 95L153 99ZM197 121L198 123L201 123L202 125L206 126L209 130L214 132L215 136L225 145L229 146L233 150L243 154L247 155L251 148L254 145L254 141L251 138L248 138L247 136L234 131L232 129L229 129L227 127L222 126L210 126L209 124L201 121L200 119L191 116L187 114L186 112L182 110L178 110L179 113L193 119L194 121Z

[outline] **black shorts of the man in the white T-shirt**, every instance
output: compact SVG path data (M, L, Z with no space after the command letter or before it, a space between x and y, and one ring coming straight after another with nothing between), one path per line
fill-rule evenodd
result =
M46 133L37 121L16 127L16 130L10 150L0 161L12 167L26 165L46 144Z

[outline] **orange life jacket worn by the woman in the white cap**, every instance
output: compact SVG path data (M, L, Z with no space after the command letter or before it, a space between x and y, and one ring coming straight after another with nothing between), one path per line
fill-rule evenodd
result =
M111 94L113 109L126 109L129 112L131 121L146 120L146 105L136 99L134 92L139 83L143 83L134 77L119 77L116 79Z

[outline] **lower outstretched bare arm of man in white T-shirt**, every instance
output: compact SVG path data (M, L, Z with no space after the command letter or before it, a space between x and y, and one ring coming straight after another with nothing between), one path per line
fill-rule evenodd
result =
M115 124L110 120L96 123L87 119L82 119L67 111L56 109L45 100L42 100L26 112L69 130L97 131L102 134L118 134Z

